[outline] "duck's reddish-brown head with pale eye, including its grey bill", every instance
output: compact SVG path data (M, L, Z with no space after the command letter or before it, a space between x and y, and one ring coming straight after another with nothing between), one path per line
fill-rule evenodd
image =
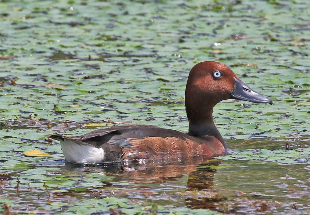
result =
M252 90L225 64L215 61L196 64L188 75L185 90L188 120L212 118L213 107L225 99L272 104L271 99Z

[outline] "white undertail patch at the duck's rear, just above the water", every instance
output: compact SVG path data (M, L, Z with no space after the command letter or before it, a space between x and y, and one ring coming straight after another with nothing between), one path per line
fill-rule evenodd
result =
M104 161L103 148L79 144L69 139L60 141L60 145L66 161L76 162L78 164Z

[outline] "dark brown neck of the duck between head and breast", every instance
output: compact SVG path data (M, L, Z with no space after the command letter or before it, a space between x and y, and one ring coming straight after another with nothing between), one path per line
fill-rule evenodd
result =
M204 112L204 116L200 116L199 118L191 118L188 116L189 121L189 128L188 128L188 135L193 137L199 137L199 136L213 136L216 139L218 139L225 149L227 148L227 145L222 137L222 135L219 133L219 130L215 127L213 117L212 117L213 109L210 111Z

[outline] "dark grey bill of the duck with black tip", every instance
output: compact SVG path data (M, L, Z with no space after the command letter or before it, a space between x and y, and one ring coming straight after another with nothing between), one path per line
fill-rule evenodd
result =
M248 102L254 103L269 103L272 104L272 100L267 96L257 93L252 90L249 86L247 86L242 81L235 78L235 85L230 94L231 99L239 99Z

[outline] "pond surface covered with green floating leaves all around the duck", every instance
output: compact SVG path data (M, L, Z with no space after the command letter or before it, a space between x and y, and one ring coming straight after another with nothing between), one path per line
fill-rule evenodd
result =
M309 9L308 0L1 1L0 210L308 214ZM186 132L188 72L206 60L274 101L215 107L227 156L77 166L44 137L122 123Z

